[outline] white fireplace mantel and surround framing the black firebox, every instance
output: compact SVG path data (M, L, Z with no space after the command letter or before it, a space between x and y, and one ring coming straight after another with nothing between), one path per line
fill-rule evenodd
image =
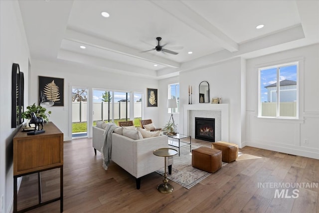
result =
M229 139L229 104L184 104L183 105L183 132L189 133L189 111L192 110L210 110L221 111L221 140Z

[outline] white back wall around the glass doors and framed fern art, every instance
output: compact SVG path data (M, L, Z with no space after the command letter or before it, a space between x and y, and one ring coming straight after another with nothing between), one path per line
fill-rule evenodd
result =
M38 103L38 76L64 78L64 106L53 106L49 108L49 110L52 111L49 119L64 133L64 141L71 140L70 123L72 117L70 112L70 95L72 86L142 92L145 98L143 103L143 117L146 119L152 118L155 125L160 125L158 116L159 108L166 106L166 103L159 101L158 107L147 107L146 103L147 88L158 88L158 80L88 68L80 64L65 62L63 60L57 60L55 62L33 60L31 70L31 101L29 104Z

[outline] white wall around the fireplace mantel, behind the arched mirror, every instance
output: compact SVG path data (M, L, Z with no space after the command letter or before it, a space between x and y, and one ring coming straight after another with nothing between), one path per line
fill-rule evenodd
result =
M179 74L179 124L183 124L183 105L188 104L188 85L192 86L193 89L192 103L199 104L199 83L205 80L209 83L210 102L213 97L222 97L222 103L230 104L229 142L238 144L241 147L241 142L243 140L242 129L245 128L241 125L241 70L242 59L236 58L222 63L213 64L211 66L206 66L205 68L181 72ZM163 87L163 90L165 89L164 87L167 87L167 84L170 81L171 79L160 81L160 86ZM182 133L182 131L182 126L179 126L179 132Z

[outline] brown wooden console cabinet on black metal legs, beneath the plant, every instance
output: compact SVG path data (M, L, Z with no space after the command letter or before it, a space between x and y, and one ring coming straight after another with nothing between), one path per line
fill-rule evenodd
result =
M27 135L21 130L13 138L13 212L17 212L17 178L38 173L39 203L29 210L60 200L63 212L63 133L52 123L44 124L45 133ZM60 197L42 202L40 172L60 168Z

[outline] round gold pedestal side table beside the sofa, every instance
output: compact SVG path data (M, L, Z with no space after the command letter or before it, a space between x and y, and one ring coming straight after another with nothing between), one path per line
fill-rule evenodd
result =
M164 162L165 162L163 184L160 184L158 186L158 190L160 193L165 193L165 194L171 193L174 190L174 188L170 184L168 184L168 179L166 174L166 158L176 155L177 151L170 148L160 148L160 149L154 150L153 154L156 156L164 157Z

